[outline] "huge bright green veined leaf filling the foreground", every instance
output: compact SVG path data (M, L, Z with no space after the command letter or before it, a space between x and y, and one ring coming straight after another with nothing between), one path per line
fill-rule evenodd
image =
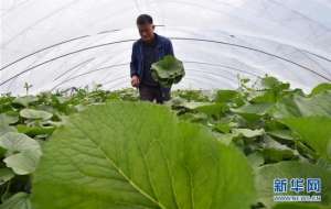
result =
M35 209L248 209L253 182L243 154L201 125L167 107L114 102L89 107L54 132L32 202Z

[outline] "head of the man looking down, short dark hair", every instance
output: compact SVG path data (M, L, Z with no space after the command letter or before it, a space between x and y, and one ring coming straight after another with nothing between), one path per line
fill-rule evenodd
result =
M140 14L137 18L137 26L143 42L151 42L154 38L153 19L148 14Z

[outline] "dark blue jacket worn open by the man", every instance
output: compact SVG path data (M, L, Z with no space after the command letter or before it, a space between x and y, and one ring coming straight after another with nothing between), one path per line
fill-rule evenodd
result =
M171 41L168 37L158 35L157 33L154 33L154 35L157 36L158 61L166 55L174 56ZM132 45L130 75L131 77L136 75L139 78L141 78L143 74L142 70L143 70L143 53L142 53L142 40L140 38L136 41ZM170 88L162 88L162 91L167 91L167 90L169 91Z

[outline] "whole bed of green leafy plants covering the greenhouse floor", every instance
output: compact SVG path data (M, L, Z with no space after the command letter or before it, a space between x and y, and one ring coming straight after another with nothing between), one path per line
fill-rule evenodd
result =
M242 79L163 106L134 89L3 95L0 155L0 209L331 208L331 85ZM321 201L277 204L278 178L320 178Z

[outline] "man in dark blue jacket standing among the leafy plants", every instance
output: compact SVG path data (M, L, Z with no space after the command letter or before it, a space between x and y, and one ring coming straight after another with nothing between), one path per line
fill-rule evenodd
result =
M130 75L132 87L139 88L140 100L163 103L170 99L170 88L163 88L151 77L151 64L166 55L173 56L172 43L169 38L154 33L153 20L148 14L137 18L140 40L132 46Z

